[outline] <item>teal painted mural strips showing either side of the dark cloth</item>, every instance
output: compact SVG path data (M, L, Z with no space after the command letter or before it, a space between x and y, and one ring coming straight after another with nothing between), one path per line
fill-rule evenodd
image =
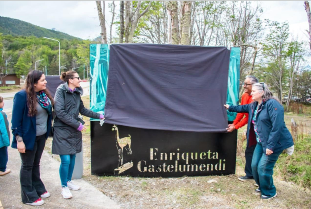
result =
M104 114L106 102L109 45L90 44L90 109ZM230 53L227 104L239 104L240 48L232 47ZM236 113L227 111L228 121L235 119ZM98 119L92 119L98 120Z

